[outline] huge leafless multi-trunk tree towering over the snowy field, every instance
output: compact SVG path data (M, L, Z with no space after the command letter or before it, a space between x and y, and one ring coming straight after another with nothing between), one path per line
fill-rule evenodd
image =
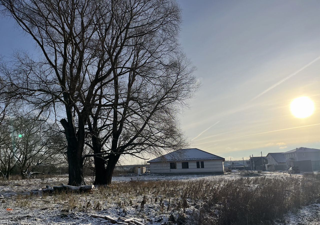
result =
M181 10L176 1L0 4L42 55L34 59L20 52L2 67L10 87L5 94L40 113L53 112L60 121L68 143L69 184L84 184L85 157L94 156L96 171L108 173L97 183L108 183L121 154L183 143L174 114L196 84L180 53ZM87 136L93 155L84 156Z

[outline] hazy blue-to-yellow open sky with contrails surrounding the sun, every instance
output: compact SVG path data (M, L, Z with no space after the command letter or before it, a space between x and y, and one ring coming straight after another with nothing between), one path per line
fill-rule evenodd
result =
M180 115L190 147L233 160L320 149L320 1L179 2L181 45L202 83ZM33 53L13 27L0 19L0 54ZM300 96L315 104L304 119L290 111Z

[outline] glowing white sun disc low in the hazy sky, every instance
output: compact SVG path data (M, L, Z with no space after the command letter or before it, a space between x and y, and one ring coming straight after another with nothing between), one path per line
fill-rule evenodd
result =
M315 106L310 98L303 96L292 100L290 109L293 116L306 118L312 115Z

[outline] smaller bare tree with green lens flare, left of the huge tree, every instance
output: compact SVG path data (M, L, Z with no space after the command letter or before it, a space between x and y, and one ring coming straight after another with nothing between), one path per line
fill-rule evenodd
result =
M61 142L57 143L57 134L52 132L46 121L26 116L13 117L10 120L14 142L13 157L23 178L41 165L59 165L53 159L61 155L63 147L60 146Z

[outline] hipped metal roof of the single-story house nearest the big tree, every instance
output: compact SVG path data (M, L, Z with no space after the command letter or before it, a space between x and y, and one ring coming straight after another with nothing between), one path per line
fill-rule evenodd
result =
M179 149L155 159L149 160L147 163L166 162L166 161L193 161L193 160L223 160L220 156L213 155L200 149Z

